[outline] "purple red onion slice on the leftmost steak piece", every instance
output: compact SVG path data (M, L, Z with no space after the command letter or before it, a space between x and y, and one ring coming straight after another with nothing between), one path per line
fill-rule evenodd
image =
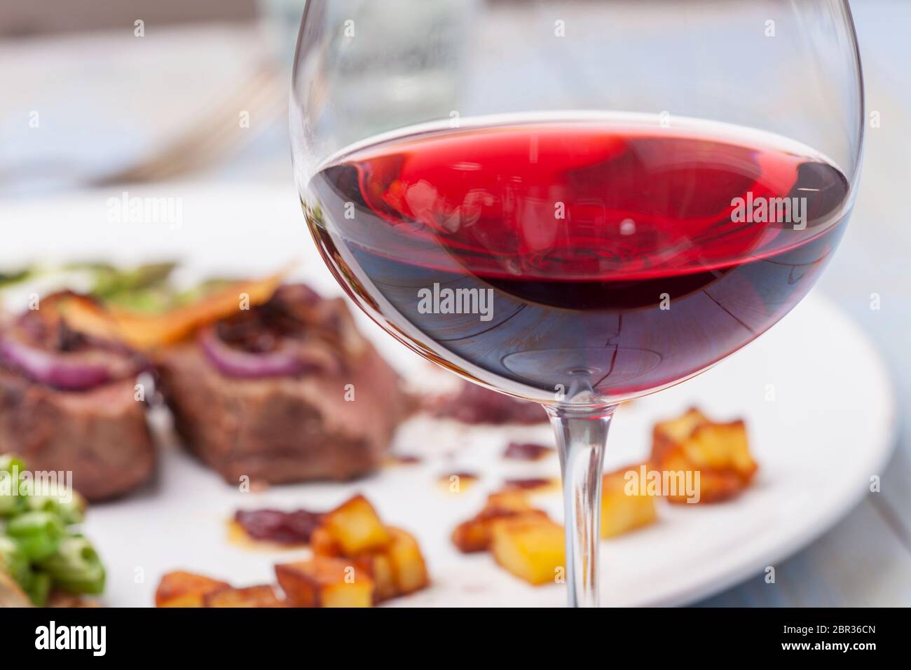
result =
M85 361L67 360L55 354L26 345L15 337L0 339L0 356L19 368L33 381L66 391L84 391L111 381L107 366Z

